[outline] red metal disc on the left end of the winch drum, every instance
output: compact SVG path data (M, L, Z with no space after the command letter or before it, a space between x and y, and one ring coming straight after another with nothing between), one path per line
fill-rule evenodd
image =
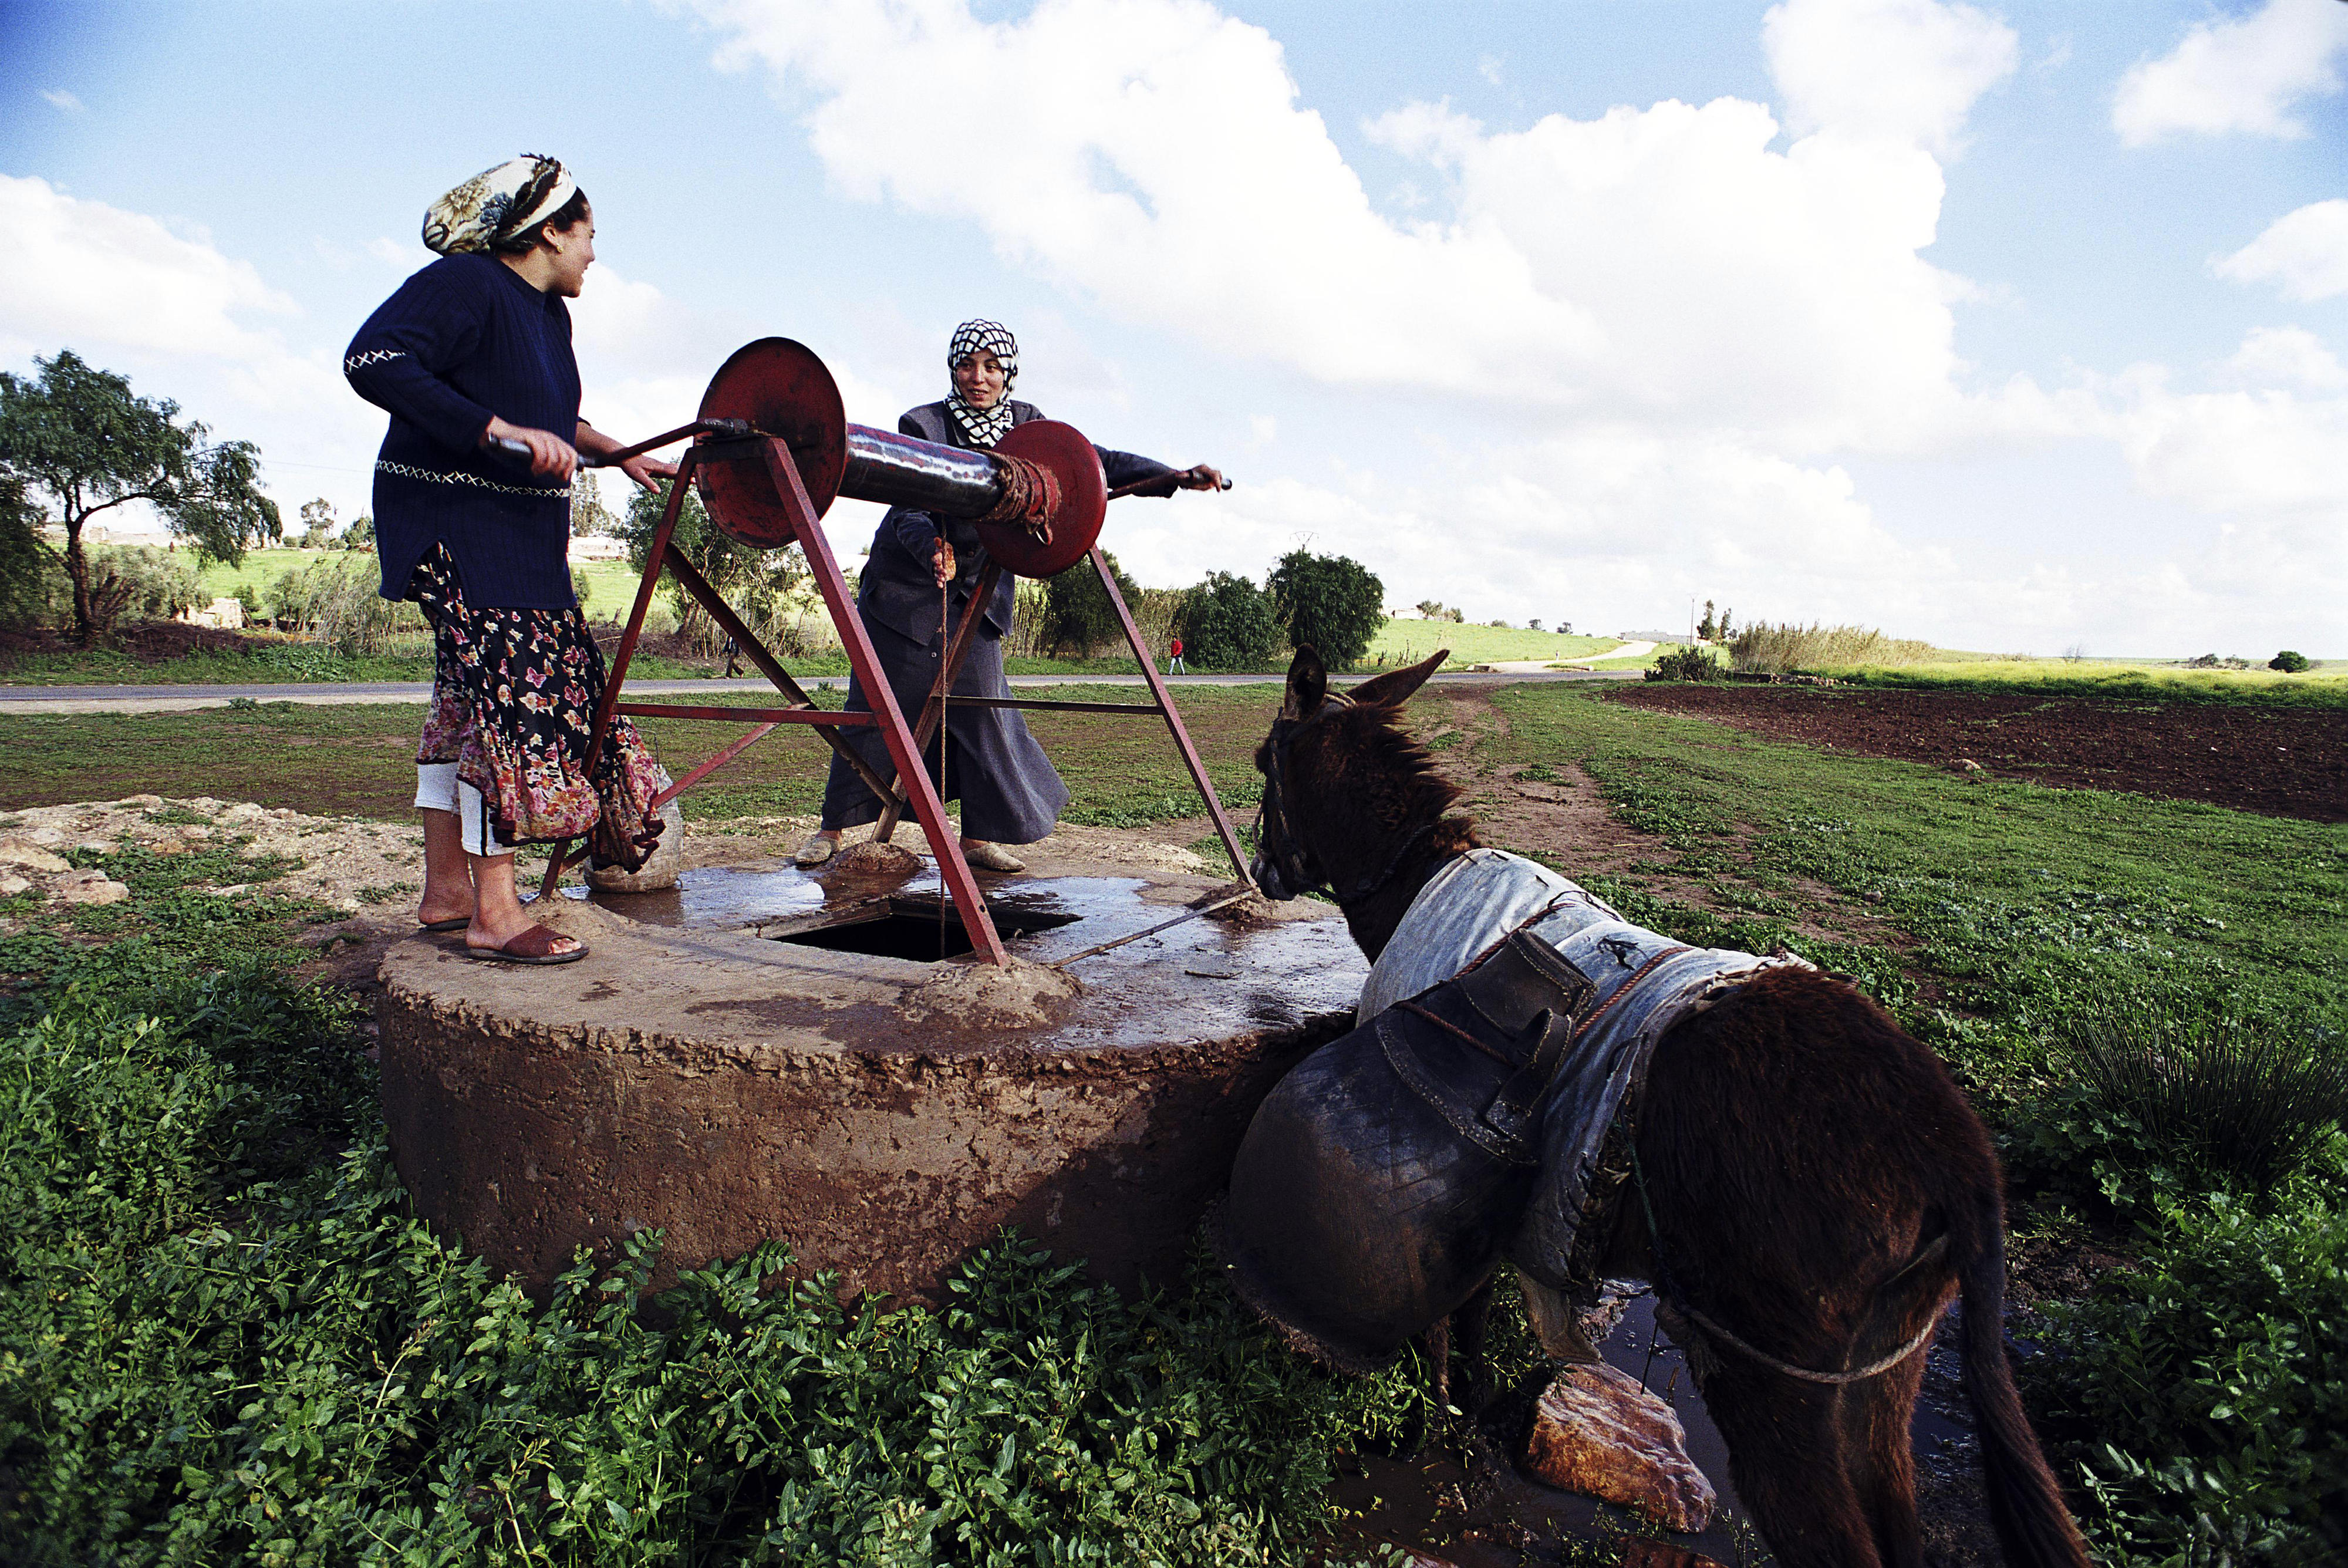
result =
M749 420L754 430L782 437L815 516L831 509L848 469L848 411L841 385L805 343L758 338L737 347L709 378L702 418ZM695 465L695 486L709 521L744 545L777 549L794 540L791 514L763 462Z

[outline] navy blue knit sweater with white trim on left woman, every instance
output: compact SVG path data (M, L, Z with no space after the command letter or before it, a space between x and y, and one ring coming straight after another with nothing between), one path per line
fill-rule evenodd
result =
M432 545L465 603L568 610L571 488L484 451L488 415L573 439L580 369L571 310L493 256L444 256L399 284L343 354L343 376L392 415L376 458L383 596L404 599Z

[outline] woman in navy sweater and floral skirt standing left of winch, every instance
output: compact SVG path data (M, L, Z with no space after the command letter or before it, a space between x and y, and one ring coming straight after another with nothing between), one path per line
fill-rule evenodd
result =
M343 373L392 415L376 458L383 596L432 622L432 711L416 751L432 932L465 930L474 958L554 965L587 955L533 922L514 847L587 838L629 871L660 838L648 810L669 775L613 721L582 761L603 657L571 592L571 474L622 444L580 418L571 312L594 263L594 211L552 157L521 155L425 214L441 256L350 340ZM632 458L646 488L676 469Z

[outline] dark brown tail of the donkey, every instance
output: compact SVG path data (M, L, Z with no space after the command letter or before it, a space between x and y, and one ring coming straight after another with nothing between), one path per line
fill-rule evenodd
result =
M1958 1272L1965 1298L1965 1394L1982 1439L1989 1519L2005 1561L2017 1568L2087 1568L2087 1542L2071 1523L2054 1472L2022 1413L2015 1368L2005 1361L2005 1225L1989 1204L1986 1223Z

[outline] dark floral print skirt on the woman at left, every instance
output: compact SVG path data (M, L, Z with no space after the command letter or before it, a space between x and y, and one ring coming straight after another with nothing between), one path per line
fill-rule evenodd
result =
M578 610L477 610L439 545L409 577L432 622L432 711L418 763L456 763L510 845L585 838L601 866L636 871L660 840L653 796L669 772L613 716L594 779L582 768L603 695L603 650Z

